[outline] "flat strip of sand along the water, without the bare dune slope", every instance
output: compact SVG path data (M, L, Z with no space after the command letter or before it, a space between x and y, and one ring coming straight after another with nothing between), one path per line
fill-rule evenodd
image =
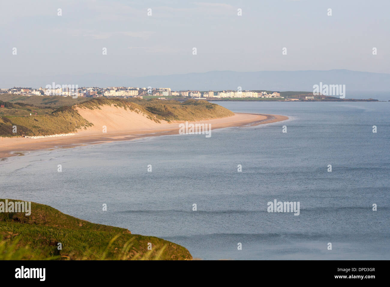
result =
M285 121L287 116L272 114L252 114L252 113L235 113L234 116L227 118L209 119L203 121L191 121L189 123L211 124L211 130L228 127L250 127L266 123L275 123ZM87 144L110 143L113 141L128 141L140 139L149 136L173 135L179 134L179 123L161 124L161 128L133 128L131 130L115 130L112 133L93 133L89 130L78 131L74 135L60 137L1 137L0 140L0 159L22 155L23 152L51 150L55 148L73 148Z

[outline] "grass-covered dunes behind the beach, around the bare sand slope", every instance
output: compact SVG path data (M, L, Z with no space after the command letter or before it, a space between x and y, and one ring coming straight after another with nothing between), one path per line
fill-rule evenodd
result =
M78 111L101 109L104 112L105 106L137 112L156 123L198 121L234 115L220 105L203 100L181 103L175 100L94 98L59 108L19 102L2 103L5 107L0 109L0 136L4 137L69 134L88 129L94 125L93 121L83 118ZM15 126L16 133L13 132Z

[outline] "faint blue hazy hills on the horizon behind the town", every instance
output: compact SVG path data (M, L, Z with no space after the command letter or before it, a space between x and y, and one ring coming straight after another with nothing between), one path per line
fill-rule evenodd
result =
M128 77L105 73L83 75L32 75L28 82L19 82L20 77L4 73L0 77L1 87L39 87L56 82L81 86L126 86L126 87L170 87L173 90L193 89L199 91L271 90L271 91L313 91L313 85L345 84L346 98L390 98L390 74L370 73L351 70L329 71L209 71L148 77Z

